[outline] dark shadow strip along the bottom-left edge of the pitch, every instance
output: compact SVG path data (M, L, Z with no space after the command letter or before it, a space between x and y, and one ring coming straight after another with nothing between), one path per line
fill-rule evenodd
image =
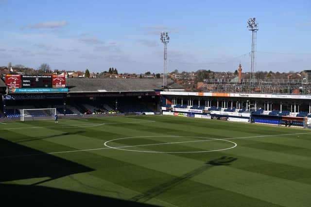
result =
M32 207L147 207L151 205L44 186L0 184L1 203Z

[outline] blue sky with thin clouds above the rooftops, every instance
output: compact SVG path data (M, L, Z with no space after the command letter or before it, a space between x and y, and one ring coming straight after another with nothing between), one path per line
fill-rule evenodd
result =
M0 66L119 73L311 69L311 0L0 0Z

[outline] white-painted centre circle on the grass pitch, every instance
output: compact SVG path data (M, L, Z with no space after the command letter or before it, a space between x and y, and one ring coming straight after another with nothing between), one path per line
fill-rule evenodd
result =
M120 146L120 147L112 147L108 145L109 142L121 140L121 139L133 139L133 138L204 138L206 140L191 140L191 141L178 141L178 142L164 142L164 143L154 143L154 144L140 144L140 145L128 145L128 146ZM224 141L224 142L229 142L233 146L228 147L228 148L222 148L222 149L215 149L215 150L204 150L204 151L189 151L189 152L160 152L160 151L145 151L145 150L131 150L131 149L126 149L130 147L143 147L143 146L155 146L155 145L168 145L168 144L178 144L178 143L187 143L187 142L206 142L206 141ZM221 139L221 138L205 138L205 137L188 137L188 136L141 136L141 137L127 137L127 138L116 138L116 139L111 139L106 142L104 142L104 146L111 148L111 149L116 149L116 150L124 150L124 151L131 151L131 152L142 152L142 153L207 153L207 152L217 152L217 151L224 151L224 150L230 150L232 148L235 148L237 146L237 143L226 140L226 139Z

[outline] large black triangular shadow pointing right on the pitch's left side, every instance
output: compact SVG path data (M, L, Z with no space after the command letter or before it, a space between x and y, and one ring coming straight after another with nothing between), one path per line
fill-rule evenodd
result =
M0 138L0 182L49 177L45 181L94 169Z

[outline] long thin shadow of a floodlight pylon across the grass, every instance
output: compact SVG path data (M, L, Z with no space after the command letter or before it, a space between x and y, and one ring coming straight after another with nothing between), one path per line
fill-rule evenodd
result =
M190 178L199 175L206 171L209 168L215 167L215 166L222 166L222 165L230 165L232 162L237 160L237 158L234 157L227 157L227 156L222 156L218 159L210 160L206 163L206 165L194 169L193 171L189 173L185 173L181 175L180 177L176 177L173 180L163 183L159 186L156 186L155 188L152 188L150 190L147 190L144 193L141 193L135 197L133 197L131 200L135 202L147 202L148 200L155 198L156 196L160 195L161 193L172 189L173 187L189 180Z

